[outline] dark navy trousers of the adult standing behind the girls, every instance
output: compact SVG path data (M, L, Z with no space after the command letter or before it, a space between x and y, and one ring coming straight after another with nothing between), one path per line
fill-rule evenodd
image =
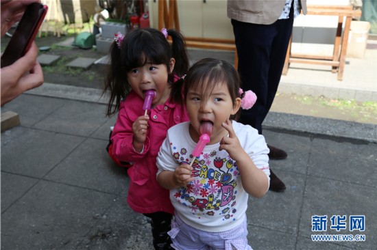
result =
M257 96L252 109L241 109L240 122L250 124L262 134L262 123L278 90L287 55L293 29L293 8L288 19L277 20L271 25L233 19L232 25L243 91L251 89Z

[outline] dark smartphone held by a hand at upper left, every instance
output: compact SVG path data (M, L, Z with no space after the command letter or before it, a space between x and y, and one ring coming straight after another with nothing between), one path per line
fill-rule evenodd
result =
M46 16L47 10L47 5L41 3L27 5L19 25L16 27L12 38L10 38L3 55L1 55L1 68L10 66L27 53Z

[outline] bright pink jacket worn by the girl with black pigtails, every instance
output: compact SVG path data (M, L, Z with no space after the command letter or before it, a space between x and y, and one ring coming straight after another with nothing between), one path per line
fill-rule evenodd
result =
M132 124L137 117L144 115L143 102L140 96L130 92L121 103L111 137L113 154L119 161L134 163L127 170L131 179L127 202L132 210L140 213L163 211L173 214L169 191L162 188L156 180L156 158L167 130L175 124L189 121L189 117L184 108L170 102L170 99L164 105L148 111L150 119L147 139L143 152L138 153L132 146Z

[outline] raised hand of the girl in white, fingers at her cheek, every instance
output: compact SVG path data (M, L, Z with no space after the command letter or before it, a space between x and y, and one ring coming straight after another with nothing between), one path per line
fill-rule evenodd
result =
M229 137L221 139L219 150L226 150L233 160L238 161L240 156L243 155L241 152L245 152L245 150L243 150L239 138L234 133L232 122L228 119L221 125L228 130Z

